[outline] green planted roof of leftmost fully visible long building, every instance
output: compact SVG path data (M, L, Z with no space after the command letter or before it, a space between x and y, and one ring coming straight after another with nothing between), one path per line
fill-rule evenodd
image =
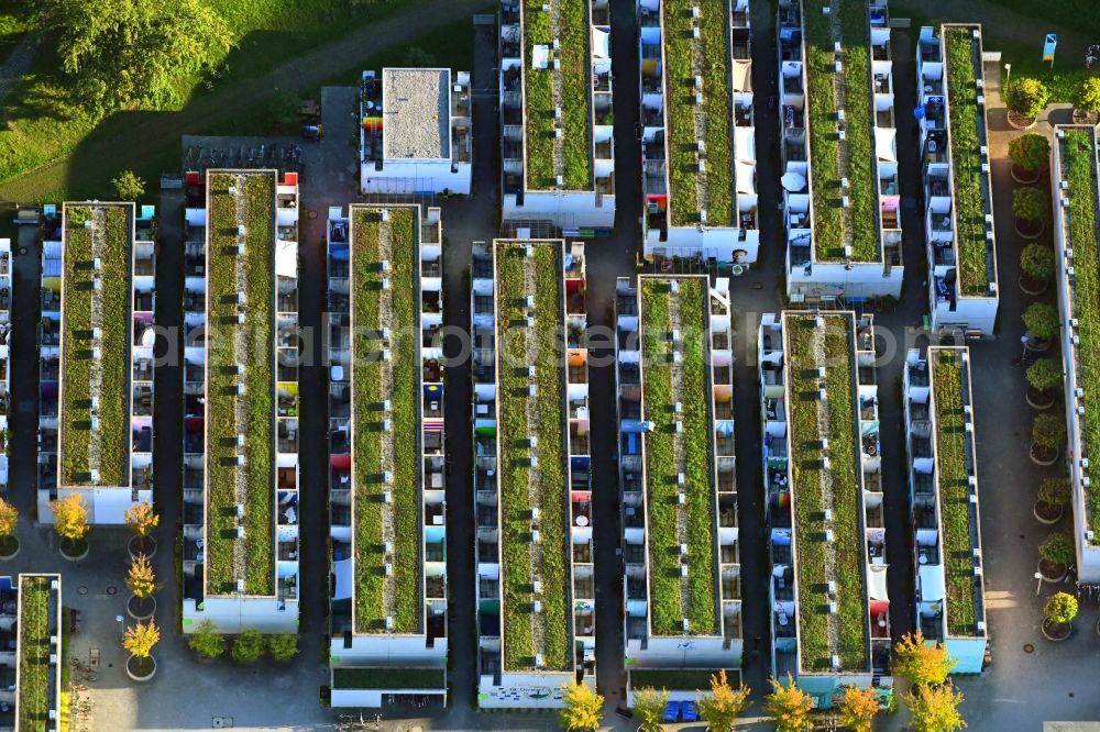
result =
M130 215L66 207L61 409L62 486L130 485ZM86 223L91 224L86 228ZM99 259L97 273L95 260ZM94 281L100 282L95 289ZM97 341L92 330L98 328ZM92 350L98 347L97 358ZM98 400L94 410L92 399ZM92 428L92 417L98 428ZM98 479L91 470L99 470Z

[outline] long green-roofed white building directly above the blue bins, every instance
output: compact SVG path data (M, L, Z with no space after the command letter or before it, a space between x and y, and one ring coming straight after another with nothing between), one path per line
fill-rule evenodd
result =
M744 651L728 280L619 278L615 320L628 701L693 700Z

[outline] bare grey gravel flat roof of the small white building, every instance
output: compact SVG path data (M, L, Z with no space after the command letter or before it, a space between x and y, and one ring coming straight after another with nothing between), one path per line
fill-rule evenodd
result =
M383 157L451 157L451 71L446 68L382 69Z

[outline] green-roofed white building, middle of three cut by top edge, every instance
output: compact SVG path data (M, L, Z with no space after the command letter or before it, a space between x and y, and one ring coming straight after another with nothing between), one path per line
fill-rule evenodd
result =
M760 246L749 0L667 4L638 2L645 255L740 273Z

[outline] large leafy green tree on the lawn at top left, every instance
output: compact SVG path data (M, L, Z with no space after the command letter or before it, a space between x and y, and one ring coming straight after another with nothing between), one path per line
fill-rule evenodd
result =
M58 34L53 47L95 117L182 101L188 77L233 45L222 18L202 0L37 0L36 23Z

